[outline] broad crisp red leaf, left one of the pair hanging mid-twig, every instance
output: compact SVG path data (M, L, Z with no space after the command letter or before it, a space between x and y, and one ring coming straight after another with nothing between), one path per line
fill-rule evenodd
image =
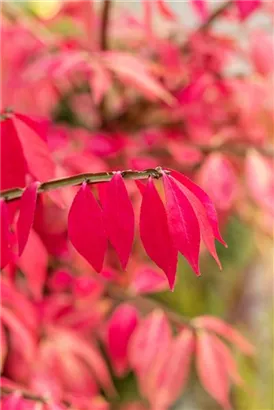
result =
M84 183L77 192L68 216L68 236L75 249L100 272L107 249L103 212Z

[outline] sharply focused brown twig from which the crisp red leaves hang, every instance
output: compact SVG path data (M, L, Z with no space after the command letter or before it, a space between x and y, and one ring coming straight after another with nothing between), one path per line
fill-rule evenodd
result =
M165 171L165 172L168 173L168 171ZM52 191L57 188L63 188L65 186L80 185L83 182L86 182L87 184L108 182L111 180L114 174L115 174L115 171L114 172L99 172L96 174L91 174L91 173L78 174L78 175L73 175L71 177L66 177L66 178L52 179L51 181L43 182L39 186L38 192L41 193L45 191ZM125 179L132 179L132 180L148 179L149 177L158 179L162 177L162 170L160 167L146 169L144 171L132 171L130 169L126 171L121 171L121 175ZM24 188L12 188L12 189L7 189L5 191L0 191L0 199L2 198L5 201L12 201L14 199L20 198L23 192L24 192Z

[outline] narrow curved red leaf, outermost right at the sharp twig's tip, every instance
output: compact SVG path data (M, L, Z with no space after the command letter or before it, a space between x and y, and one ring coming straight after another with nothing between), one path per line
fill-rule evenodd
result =
M168 169L168 168L167 168ZM219 226L218 226L218 215L216 212L216 209L214 207L213 202L209 198L209 196L200 188L197 184L195 184L193 181L191 181L189 178L187 178L185 175L180 174L177 171L174 171L170 169L171 175L177 179L177 181L181 182L193 195L196 196L196 198L201 202L203 207L206 210L207 218L211 224L211 228L213 230L213 234L215 238L222 243L223 245L226 246L225 241L221 237L221 234L219 232Z

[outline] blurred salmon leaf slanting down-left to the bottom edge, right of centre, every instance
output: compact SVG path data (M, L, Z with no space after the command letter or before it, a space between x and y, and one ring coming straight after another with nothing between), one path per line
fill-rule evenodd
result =
M194 348L194 335L189 329L184 329L173 340L151 391L153 408L167 409L182 394L189 376Z

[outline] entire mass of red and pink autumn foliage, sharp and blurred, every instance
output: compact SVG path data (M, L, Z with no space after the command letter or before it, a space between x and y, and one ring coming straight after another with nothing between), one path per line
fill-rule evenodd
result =
M231 215L271 235L274 45L248 21L273 7L189 0L190 30L167 0L140 3L3 7L3 410L168 410L197 380L231 409L232 386L248 389L234 350L253 344L157 296L187 266L209 274L208 255L222 270Z

